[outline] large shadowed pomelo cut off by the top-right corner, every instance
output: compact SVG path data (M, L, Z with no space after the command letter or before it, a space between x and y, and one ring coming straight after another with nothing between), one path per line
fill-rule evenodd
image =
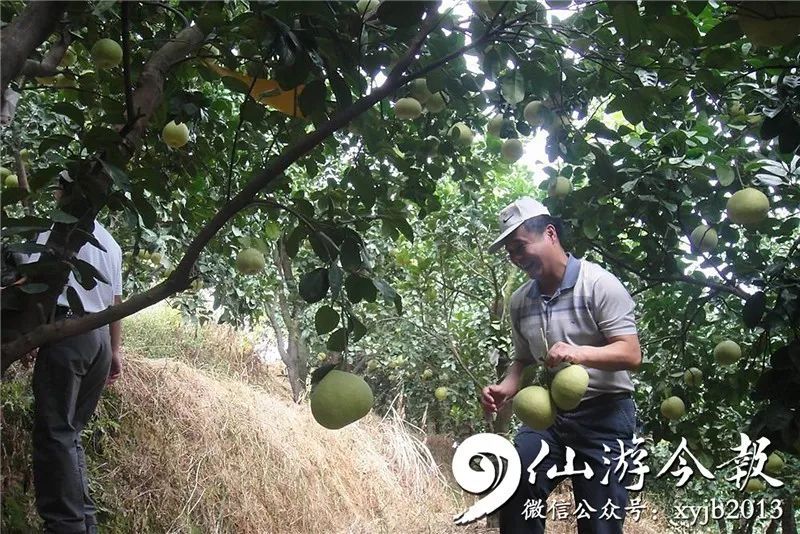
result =
M754 45L783 46L798 36L800 4L796 2L744 2L736 15Z

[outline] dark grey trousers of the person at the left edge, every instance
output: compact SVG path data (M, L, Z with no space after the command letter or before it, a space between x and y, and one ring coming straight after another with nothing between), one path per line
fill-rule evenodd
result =
M39 349L33 371L33 481L45 532L96 532L81 431L110 367L107 326Z

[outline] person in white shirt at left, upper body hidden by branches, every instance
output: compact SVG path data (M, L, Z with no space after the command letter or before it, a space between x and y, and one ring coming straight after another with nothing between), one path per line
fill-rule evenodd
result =
M71 182L59 180L60 199ZM45 244L50 232L40 234ZM55 319L70 319L66 297L73 288L86 313L96 313L122 301L122 250L97 221L93 235L105 250L86 243L77 259L86 261L108 281L97 281L84 289L70 273L58 297ZM38 260L38 254L27 262ZM96 533L95 505L89 496L81 431L95 411L106 384L122 372L120 322L46 344L39 348L33 371L33 479L36 509L44 531L52 533Z

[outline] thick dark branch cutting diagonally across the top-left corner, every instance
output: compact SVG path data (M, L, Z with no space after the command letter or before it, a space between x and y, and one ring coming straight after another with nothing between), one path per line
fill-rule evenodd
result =
M11 24L0 30L0 94L19 76L33 51L53 33L66 8L67 2L29 2Z

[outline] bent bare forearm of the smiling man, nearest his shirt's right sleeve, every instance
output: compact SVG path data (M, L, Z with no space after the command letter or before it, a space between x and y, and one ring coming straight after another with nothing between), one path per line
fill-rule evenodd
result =
M579 363L603 371L636 371L642 364L642 349L636 334L608 338L602 347L568 345L562 341L550 347L546 364L554 367L561 362Z

